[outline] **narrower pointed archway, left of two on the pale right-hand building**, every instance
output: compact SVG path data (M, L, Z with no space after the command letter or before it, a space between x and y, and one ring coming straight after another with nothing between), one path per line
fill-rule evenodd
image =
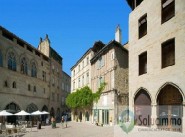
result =
M134 98L135 124L151 125L151 98L146 90L140 89Z

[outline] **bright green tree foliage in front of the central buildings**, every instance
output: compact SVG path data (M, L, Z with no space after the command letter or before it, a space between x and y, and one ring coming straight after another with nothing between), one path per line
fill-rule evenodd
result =
M102 83L96 93L93 93L88 86L78 89L76 92L73 92L67 96L66 105L71 109L83 109L91 107L94 101L98 102L105 85L105 83Z

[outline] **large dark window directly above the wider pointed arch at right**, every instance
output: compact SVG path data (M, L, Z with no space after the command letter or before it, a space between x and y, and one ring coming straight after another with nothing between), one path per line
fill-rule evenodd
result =
M175 65L175 39L162 44L162 68Z

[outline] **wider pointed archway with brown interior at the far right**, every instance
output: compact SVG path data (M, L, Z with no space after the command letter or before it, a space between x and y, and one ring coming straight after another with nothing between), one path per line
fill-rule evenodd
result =
M178 88L168 84L159 91L157 96L158 127L168 130L182 130L183 96Z

